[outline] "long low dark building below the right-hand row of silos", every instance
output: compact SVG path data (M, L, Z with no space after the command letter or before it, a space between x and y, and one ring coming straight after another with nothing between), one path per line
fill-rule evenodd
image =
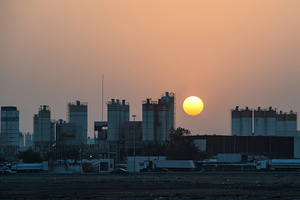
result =
M192 135L195 140L206 140L207 155L242 154L263 155L269 159L300 158L300 137L286 136L230 136Z

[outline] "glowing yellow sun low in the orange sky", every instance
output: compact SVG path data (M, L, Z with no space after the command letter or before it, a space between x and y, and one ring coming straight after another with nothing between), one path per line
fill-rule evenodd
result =
M203 110L203 101L197 96L189 96L183 102L183 110L188 115L198 115Z

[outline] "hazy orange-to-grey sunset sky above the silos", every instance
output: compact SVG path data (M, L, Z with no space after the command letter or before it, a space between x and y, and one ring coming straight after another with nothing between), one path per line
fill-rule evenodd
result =
M230 109L300 111L300 1L0 0L0 106L33 132L40 105L66 120L67 103L88 103L88 136L104 102L176 93L176 126L230 134ZM182 103L204 102L197 116ZM133 118L130 117L133 121ZM107 107L104 107L104 121Z

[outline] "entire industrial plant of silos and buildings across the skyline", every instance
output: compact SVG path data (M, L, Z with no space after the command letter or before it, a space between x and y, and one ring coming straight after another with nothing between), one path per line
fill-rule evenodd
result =
M20 112L16 107L1 107L1 154L13 156L29 146L42 154L80 149L80 156L93 159L85 162L99 166L98 172L111 171L118 165L138 171L136 160L139 163L150 161L144 159L166 160L143 158L141 150L143 144L164 144L170 139L170 130L176 128L176 94L165 92L156 101L146 98L141 104L142 121L135 121L134 115L130 121L129 102L112 98L106 103L107 121L94 122L92 139L87 136L87 103L67 103L66 121L51 119L51 108L40 106L38 114L33 116L33 133L19 131ZM231 135L189 137L199 151L212 158L223 158L222 155L240 155L244 160L300 158L297 112L237 106L230 110L230 131ZM136 156L139 157L135 160ZM57 155L54 158L58 159Z

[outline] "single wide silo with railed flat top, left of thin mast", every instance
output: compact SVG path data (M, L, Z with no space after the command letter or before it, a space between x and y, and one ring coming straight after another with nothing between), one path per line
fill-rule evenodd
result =
M82 143L87 144L87 103L68 103L68 123L82 126Z

